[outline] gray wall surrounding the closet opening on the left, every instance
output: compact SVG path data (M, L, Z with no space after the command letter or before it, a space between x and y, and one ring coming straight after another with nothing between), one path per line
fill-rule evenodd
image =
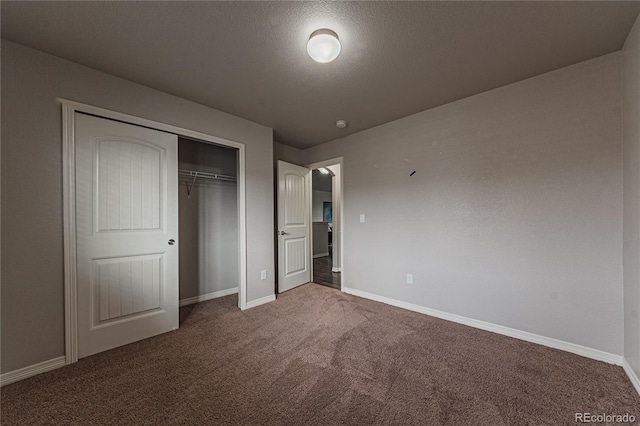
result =
M58 97L244 143L247 300L273 294L272 129L2 40L2 372L64 354Z

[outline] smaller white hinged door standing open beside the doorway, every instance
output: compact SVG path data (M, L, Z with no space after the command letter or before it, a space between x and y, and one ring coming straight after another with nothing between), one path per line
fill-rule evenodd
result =
M278 161L278 293L311 281L309 169Z

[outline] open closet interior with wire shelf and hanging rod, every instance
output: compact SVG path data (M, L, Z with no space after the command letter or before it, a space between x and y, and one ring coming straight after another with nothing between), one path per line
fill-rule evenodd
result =
M178 138L180 306L238 292L238 150Z

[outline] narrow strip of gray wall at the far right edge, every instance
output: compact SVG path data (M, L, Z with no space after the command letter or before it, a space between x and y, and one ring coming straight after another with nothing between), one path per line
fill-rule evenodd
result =
M640 376L640 18L622 49L624 356Z

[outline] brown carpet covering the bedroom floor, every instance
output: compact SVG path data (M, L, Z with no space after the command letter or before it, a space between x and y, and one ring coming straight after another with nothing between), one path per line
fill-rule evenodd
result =
M631 413L622 368L307 284L1 393L2 425L570 425Z

